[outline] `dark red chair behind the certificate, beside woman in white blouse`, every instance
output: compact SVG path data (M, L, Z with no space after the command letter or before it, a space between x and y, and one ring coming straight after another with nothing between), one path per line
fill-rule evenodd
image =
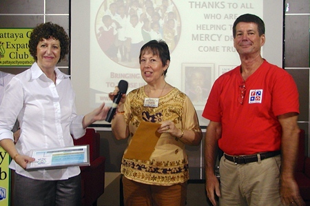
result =
M97 199L105 189L105 157L100 156L100 134L92 128L74 139L74 145L90 145L90 166L81 168L82 205L97 205Z

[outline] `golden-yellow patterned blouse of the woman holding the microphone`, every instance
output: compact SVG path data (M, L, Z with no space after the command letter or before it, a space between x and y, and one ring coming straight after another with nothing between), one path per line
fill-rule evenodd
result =
M201 132L194 105L180 90L174 88L161 97L158 107L144 107L146 97L144 87L127 94L124 115L130 130L129 144L141 121L162 123L170 120L180 129ZM189 179L185 144L163 133L149 161L123 158L121 173L128 179L149 185L184 183Z

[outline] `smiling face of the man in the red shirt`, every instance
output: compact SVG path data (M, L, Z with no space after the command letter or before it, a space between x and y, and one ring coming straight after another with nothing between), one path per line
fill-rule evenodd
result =
M265 44L265 34L259 35L256 23L240 22L236 25L234 48L238 54L260 54L260 48Z

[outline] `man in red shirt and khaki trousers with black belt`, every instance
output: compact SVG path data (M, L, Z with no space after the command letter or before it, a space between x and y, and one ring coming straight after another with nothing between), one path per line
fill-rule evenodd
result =
M214 83L203 117L207 196L216 205L304 205L294 168L298 90L293 78L260 55L265 24L243 14L233 25L241 65ZM220 184L214 175L217 148Z

